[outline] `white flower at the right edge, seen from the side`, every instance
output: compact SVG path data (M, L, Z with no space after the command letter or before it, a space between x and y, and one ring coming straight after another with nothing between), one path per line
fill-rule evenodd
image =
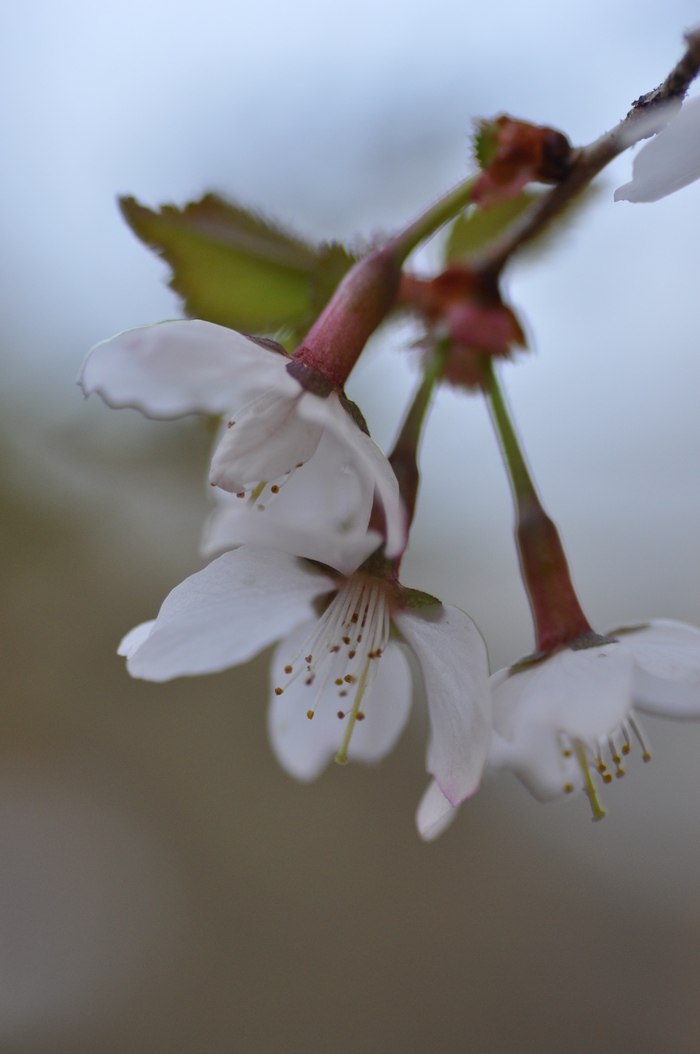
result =
M700 718L699 629L658 620L606 639L510 666L490 682L489 768L510 768L540 801L584 790L594 819L605 815L594 773L603 783L623 776L636 747L649 760L638 710ZM453 816L431 785L419 808L424 837L436 837Z

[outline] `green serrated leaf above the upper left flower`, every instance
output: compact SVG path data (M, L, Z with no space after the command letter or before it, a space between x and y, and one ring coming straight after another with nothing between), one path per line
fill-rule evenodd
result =
M246 333L302 335L354 262L343 247L318 248L259 215L207 194L158 212L119 201L134 233L172 268L189 315Z

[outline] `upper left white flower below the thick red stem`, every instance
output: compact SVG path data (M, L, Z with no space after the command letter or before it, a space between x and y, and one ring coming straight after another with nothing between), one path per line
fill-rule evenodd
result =
M254 541L352 566L381 541L375 532L367 536L376 494L386 551L396 555L406 518L388 461L342 393L330 385L325 397L308 391L290 373L291 363L222 326L172 321L98 344L79 384L85 395L97 391L110 406L135 407L149 417L229 417L210 482L236 496L227 508L219 503L207 551Z

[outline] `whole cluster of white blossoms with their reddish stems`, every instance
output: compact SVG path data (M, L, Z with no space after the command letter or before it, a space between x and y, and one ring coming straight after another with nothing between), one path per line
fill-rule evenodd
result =
M468 189L481 208L531 179L567 177L575 155L553 130L506 118L483 125L482 137L485 129L491 159ZM685 141L682 126L680 139L665 135L672 147ZM648 162L639 156L625 191L633 200L659 196L659 143L646 148ZM667 182L683 179L685 169ZM453 198L456 215L465 201ZM119 653L133 677L168 681L235 666L276 644L270 741L299 780L315 779L333 758L383 758L417 688L430 728L430 781L416 814L426 839L487 769L510 769L542 801L583 792L600 819L599 788L623 776L635 753L649 758L640 713L700 717L700 630L658 620L605 633L589 625L493 368L524 346L523 330L493 269L450 264L429 282L403 273L428 228L412 225L359 260L294 354L207 320L131 330L92 350L79 378L85 395L153 418L221 421L201 539L213 559L124 637ZM425 326L425 375L387 457L344 384L395 305ZM513 491L536 651L493 674L465 612L400 581L419 444L440 380L486 397Z

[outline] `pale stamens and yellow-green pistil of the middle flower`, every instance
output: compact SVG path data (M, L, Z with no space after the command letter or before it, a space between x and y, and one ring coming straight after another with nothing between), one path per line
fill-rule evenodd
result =
M337 717L348 719L335 760L345 764L355 723L364 721L361 709L388 641L391 611L386 585L378 579L354 574L337 591L313 630L285 666L289 680L276 687L280 696L302 678L309 689L307 717L332 684L339 701Z

